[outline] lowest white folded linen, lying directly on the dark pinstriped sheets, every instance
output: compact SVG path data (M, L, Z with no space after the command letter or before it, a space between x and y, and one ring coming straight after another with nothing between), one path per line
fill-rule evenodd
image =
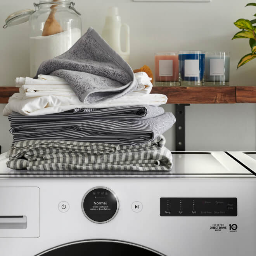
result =
M125 95L118 99L108 100L98 104L81 104L76 96L48 95L29 99L22 99L22 93L14 93L9 103L3 109L3 116L18 112L22 115L40 116L45 114L59 113L74 108L107 108L120 106L152 105L160 106L166 104L167 97L163 94L143 94L133 92L133 95Z

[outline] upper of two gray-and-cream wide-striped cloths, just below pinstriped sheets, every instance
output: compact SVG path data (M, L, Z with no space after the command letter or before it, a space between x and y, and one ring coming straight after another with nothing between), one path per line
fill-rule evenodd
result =
M138 152L142 150L158 150L165 145L163 135L143 145L116 145L108 143L78 142L68 140L23 140L11 146L7 156L10 160L26 158L29 161L45 160L55 154L79 153L81 155L112 154Z

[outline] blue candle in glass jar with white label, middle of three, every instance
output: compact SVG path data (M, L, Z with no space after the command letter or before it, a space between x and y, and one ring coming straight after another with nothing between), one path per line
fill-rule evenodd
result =
M204 84L204 51L179 52L179 78L182 86Z

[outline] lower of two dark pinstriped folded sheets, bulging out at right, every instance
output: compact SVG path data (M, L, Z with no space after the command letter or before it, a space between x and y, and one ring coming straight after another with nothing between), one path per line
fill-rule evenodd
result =
M170 112L148 119L52 119L17 122L12 124L10 133L14 137L13 142L40 139L140 145L163 134L175 121Z

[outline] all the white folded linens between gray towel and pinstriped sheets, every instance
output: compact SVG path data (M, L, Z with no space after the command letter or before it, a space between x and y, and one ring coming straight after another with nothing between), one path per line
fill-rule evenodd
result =
M3 109L3 115L12 111L22 115L45 115L78 108L107 108L119 106L152 105L160 106L167 102L163 94L149 94L152 89L152 78L147 73L135 73L138 87L133 92L114 100L100 104L83 104L62 78L57 76L38 75L38 79L16 78L19 93L14 93Z

